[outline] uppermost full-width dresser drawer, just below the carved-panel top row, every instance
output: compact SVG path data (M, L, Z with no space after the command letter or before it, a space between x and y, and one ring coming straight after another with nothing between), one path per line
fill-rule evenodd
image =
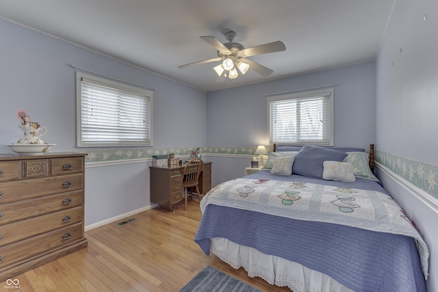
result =
M83 174L69 174L0 185L0 203L83 189Z

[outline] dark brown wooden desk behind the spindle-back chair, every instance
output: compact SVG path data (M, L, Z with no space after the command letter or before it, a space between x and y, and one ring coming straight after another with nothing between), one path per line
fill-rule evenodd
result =
M151 171L151 202L174 209L175 204L183 202L184 167L185 165L149 167ZM201 194L206 194L211 189L211 161L203 161L198 187Z

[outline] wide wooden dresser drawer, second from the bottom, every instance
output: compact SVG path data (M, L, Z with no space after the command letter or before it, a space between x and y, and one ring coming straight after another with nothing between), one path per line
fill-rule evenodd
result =
M82 207L57 211L0 226L0 246L82 221Z

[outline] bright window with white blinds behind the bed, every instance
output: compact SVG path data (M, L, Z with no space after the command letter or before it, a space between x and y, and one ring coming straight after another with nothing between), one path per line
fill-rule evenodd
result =
M333 146L333 89L268 98L270 143Z

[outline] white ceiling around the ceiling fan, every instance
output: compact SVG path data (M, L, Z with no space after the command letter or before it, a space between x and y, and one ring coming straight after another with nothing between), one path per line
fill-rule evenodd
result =
M0 0L0 17L140 66L205 92L376 58L396 0ZM248 57L274 72L216 82L219 62L199 36L286 51Z

